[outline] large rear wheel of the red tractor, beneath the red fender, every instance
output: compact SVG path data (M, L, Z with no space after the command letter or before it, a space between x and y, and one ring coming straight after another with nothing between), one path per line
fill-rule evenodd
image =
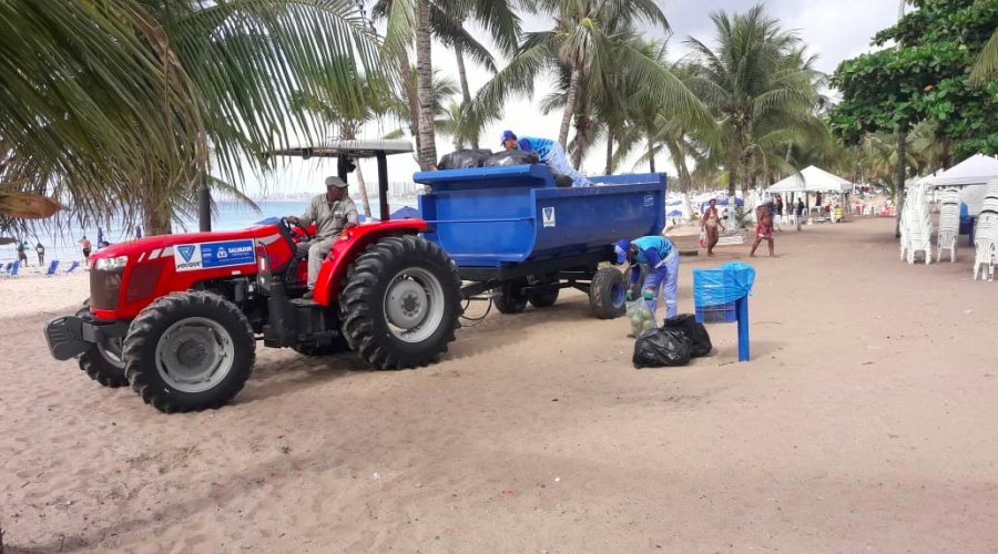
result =
M455 339L460 289L457 267L436 244L414 235L383 238L347 273L343 335L377 369L426 366Z

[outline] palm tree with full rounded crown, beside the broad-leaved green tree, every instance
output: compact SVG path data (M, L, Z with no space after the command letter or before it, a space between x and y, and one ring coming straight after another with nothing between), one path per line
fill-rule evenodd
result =
M766 117L793 117L808 107L814 96L812 70L788 63L800 38L782 30L762 6L733 17L715 12L711 19L716 30L713 49L686 39L695 59L688 83L720 121L716 146L726 158L733 196L740 170L747 170L753 158L755 125Z

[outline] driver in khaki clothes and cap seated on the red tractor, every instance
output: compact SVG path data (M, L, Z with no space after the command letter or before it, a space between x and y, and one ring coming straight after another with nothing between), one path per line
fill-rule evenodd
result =
M339 177L326 177L326 194L312 198L305 215L289 216L287 220L303 228L315 222L315 238L298 244L299 250L308 249L308 293L304 298L312 298L323 259L329 254L336 237L343 229L357 225L357 205L347 195L345 181Z

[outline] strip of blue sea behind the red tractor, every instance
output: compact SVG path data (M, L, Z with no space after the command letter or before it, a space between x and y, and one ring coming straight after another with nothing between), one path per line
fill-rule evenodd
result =
M363 213L363 208L360 207L359 198L354 198L357 202L357 209ZM218 202L217 214L212 217L212 230L232 230L232 229L241 229L248 227L256 222L262 219L266 219L268 217L279 217L279 216L288 216L288 215L302 215L305 213L305 207L308 205L307 201L257 201L256 204L259 206L259 212L252 209L251 207L238 204L235 202ZM377 216L377 198L370 198L371 211ZM404 206L416 207L417 201L416 196L393 196L389 198L389 206L393 211L398 209ZM104 240L109 243L121 243L124 240L130 240L135 238L135 228L124 228L121 222L112 222L112 224L108 227L102 227L101 233L103 234ZM174 223L173 233L192 233L197 230L197 222L196 220L184 220L181 224ZM52 259L59 259L60 266L69 265L69 263L73 259L82 259L83 252L80 247L79 242L86 236L90 242L93 244L94 248L98 245L98 226L90 225L85 228L73 228L69 232L55 232L44 229L38 229L37 234L31 234L27 238L28 243L31 245L31 250L28 253L28 265L29 267L38 266L38 255L34 253L34 245L39 242L45 247L45 263L48 264ZM144 235L144 230L143 230ZM7 261L12 261L18 258L17 248L14 245L3 245L0 246L0 263L6 264Z

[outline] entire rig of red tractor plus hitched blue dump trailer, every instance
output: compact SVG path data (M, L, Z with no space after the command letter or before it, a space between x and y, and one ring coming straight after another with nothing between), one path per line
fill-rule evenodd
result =
M220 408L242 390L258 340L306 356L353 351L376 369L426 366L455 340L462 301L505 314L547 307L562 288L593 314L623 314L620 237L660 233L664 175L558 188L542 165L418 173L421 218L390 219L387 156L404 141L337 141L275 155L378 166L380 222L346 229L305 299L307 229L286 219L238 230L152 236L91 256L90 299L52 319L53 357L106 387L131 384L163 412ZM601 267L602 266L602 267Z

